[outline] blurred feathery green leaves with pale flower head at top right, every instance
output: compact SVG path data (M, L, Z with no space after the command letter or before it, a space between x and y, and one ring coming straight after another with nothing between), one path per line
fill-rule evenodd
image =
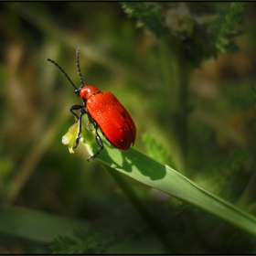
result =
M202 60L217 58L218 53L238 50L232 37L240 35L238 26L245 3L234 2L227 6L202 3L172 3L163 13L158 3L123 3L128 16L136 17L139 27L145 27L156 37L174 37L176 45L182 44L183 58L194 65Z

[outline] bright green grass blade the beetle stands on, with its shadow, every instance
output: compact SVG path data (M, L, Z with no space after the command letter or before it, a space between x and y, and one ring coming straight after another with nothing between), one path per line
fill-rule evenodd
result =
M197 186L173 168L158 163L138 150L131 148L127 152L121 152L107 143L105 145L106 150L103 150L98 156L98 159L104 164L256 235L256 218L251 214L242 211L203 187ZM88 145L87 148L91 152ZM95 147L92 152L94 151Z

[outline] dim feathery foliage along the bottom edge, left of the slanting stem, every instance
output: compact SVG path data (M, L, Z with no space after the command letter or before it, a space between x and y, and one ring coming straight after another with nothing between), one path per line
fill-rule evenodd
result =
M91 229L76 230L73 238L68 236L56 238L52 242L51 249L55 253L107 253L111 247L125 240L141 240L145 233L144 223L137 218L131 208L122 208L113 216L108 216L92 225ZM146 251L150 253L150 249Z

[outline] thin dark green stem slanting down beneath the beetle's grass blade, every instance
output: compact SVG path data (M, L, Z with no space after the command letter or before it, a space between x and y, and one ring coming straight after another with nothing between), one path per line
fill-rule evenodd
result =
M133 187L130 186L123 174L120 174L118 171L112 169L112 167L109 165L101 163L101 166L112 177L117 186L120 187L123 194L130 200L130 202L133 204L133 207L137 209L144 221L148 224L149 228L152 229L159 240L165 244L166 250L169 253L174 253L175 251L170 245L170 241L165 238L165 232L159 227L159 225L157 225L156 220L146 210L140 198L137 197L136 193L134 192Z

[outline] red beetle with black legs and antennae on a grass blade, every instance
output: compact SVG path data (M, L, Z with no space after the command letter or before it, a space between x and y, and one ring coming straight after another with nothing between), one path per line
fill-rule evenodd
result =
M77 88L70 80L67 73L54 60L48 61L55 64L64 76L69 80L75 88L75 93L80 96L83 105L74 105L70 107L70 112L74 114L79 122L79 131L76 137L74 148L79 145L81 133L81 119L84 114L88 114L90 123L93 123L95 131L95 139L100 145L97 152L87 159L90 161L100 154L103 149L103 143L98 133L98 128L106 139L116 148L128 150L131 144L135 143L136 127L130 114L124 109L123 105L109 91L100 91L94 86L83 85L83 80L80 73L80 49L77 49L77 69L80 77L80 88ZM76 110L80 110L78 115Z

